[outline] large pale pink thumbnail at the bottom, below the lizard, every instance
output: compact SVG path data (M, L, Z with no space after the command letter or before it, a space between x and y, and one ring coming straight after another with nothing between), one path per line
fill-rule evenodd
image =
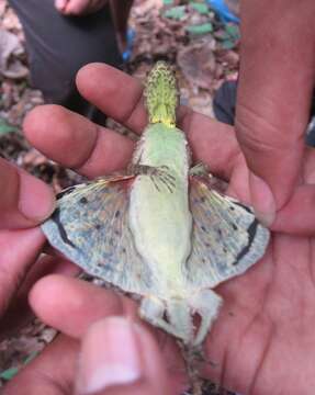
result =
M93 394L110 386L132 384L140 376L140 357L134 325L121 317L94 324L82 345L79 394Z

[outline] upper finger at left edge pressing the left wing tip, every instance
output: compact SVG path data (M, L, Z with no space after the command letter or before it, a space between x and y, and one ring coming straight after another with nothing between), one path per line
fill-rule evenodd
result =
M0 190L0 229L35 226L55 208L48 185L1 158Z

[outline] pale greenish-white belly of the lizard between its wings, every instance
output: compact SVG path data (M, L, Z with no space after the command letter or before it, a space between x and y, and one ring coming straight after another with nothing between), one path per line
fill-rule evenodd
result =
M162 139L160 131L158 133ZM142 143L138 163L167 166L173 182L167 185L157 176L153 176L154 179L147 174L137 176L130 200L130 227L137 251L149 264L160 292L168 294L182 290L182 268L191 251L188 153L185 139L178 137L170 142L167 139L167 147L164 147L164 140L147 138ZM154 155L150 155L150 149ZM161 155L158 155L158 149Z

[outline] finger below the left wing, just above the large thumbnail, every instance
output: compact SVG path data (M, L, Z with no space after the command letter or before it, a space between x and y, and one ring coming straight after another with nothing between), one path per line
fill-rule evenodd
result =
M60 298L60 295L64 297ZM123 314L136 316L134 302L93 284L55 274L34 285L30 304L46 324L77 338L102 317Z

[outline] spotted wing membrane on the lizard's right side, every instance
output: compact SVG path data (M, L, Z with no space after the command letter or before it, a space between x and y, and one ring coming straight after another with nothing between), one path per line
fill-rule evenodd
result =
M198 179L191 182L190 207L192 251L185 266L190 286L214 287L263 256L270 234L250 207Z

